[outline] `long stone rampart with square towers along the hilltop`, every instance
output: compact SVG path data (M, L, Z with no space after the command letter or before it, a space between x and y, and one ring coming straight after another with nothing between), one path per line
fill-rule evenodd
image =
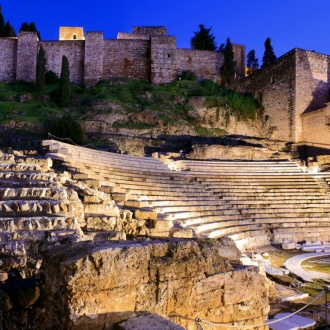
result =
M176 79L184 70L199 78L218 81L223 55L213 51L176 48L176 38L165 27L134 27L133 33L119 33L104 39L101 32L82 28L61 28L60 41L38 41L36 33L20 32L18 38L0 39L0 81L35 81L38 48L46 51L47 70L60 75L62 56L69 60L70 79L91 86L100 80L129 78L155 84ZM233 45L237 76L245 74L245 47Z

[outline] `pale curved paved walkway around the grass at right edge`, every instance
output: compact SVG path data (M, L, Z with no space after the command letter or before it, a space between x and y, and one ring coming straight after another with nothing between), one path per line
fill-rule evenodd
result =
M293 274L299 276L305 282L313 282L313 278L319 278L324 281L330 282L330 275L325 273L320 273L316 271L307 271L302 269L300 264L307 259L315 257L330 256L330 252L315 252L315 253L305 253L299 254L297 256L289 258L284 266Z

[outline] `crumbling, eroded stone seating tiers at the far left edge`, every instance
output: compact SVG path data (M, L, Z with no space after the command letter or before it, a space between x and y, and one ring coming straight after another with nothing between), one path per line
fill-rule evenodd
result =
M0 153L0 251L25 255L35 242L77 240L72 195L51 160Z

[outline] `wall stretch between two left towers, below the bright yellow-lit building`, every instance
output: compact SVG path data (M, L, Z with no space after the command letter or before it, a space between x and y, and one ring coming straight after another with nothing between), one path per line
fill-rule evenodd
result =
M46 51L46 69L61 75L62 57L68 58L70 80L81 84L84 77L84 41L46 41L41 43Z

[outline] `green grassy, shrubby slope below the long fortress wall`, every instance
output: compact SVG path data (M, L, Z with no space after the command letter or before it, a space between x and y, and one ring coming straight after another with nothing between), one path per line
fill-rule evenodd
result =
M178 80L152 85L114 79L100 82L91 88L73 84L71 87L71 104L61 108L57 105L57 82L46 85L43 93L38 93L33 83L0 84L1 127L15 130L18 134L37 134L44 138L48 131L61 135L54 123L63 116L83 124L88 120L102 118L102 115L112 115L118 117L118 120L111 123L111 128L116 132L118 129L136 131L157 125L179 124L191 127L197 136L225 134L225 127L205 129L203 123L191 116L190 101L198 97L203 97L205 107L217 108L217 117L225 112L226 122L229 122L231 116L237 120L253 120L261 114L260 105L251 95L227 91L210 80ZM152 114L153 120L150 122L144 115L136 120L135 115L144 114L145 111Z

